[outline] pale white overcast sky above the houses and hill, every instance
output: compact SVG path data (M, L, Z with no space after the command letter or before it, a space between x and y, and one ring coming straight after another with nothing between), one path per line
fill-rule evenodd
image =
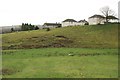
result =
M0 0L0 26L31 23L42 25L65 19L77 21L94 14L101 14L100 8L109 6L118 16L120 0Z

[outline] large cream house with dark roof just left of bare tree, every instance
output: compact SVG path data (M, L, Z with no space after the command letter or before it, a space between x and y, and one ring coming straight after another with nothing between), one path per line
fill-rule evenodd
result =
M102 15L93 15L88 18L89 25L104 24L105 17Z

